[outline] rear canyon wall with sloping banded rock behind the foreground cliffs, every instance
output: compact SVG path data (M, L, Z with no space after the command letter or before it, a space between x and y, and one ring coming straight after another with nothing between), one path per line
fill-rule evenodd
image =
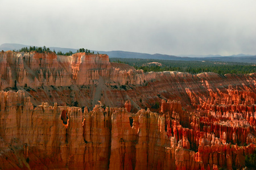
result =
M50 105L88 107L101 101L109 107L131 111L151 108L164 100L177 100L187 110L210 105L252 105L256 100L256 73L201 73L177 71L143 73L122 63L109 62L104 54L76 53L0 53L0 90L24 90L34 106Z

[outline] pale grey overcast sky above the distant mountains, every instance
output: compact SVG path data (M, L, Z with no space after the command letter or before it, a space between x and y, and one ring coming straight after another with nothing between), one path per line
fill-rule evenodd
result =
M255 0L0 0L0 45L256 54Z

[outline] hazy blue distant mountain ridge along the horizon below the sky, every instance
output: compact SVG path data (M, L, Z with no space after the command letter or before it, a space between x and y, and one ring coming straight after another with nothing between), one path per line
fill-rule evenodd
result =
M23 47L30 47L32 45L23 44L2 44L0 45L0 50L19 50ZM49 47L52 51L61 51L67 53L69 51L76 53L78 49L73 48L60 48L60 47ZM94 53L108 54L109 58L143 58L143 59L168 59L168 60L181 60L181 61L223 61L223 62L246 62L246 63L256 63L256 56L246 55L246 54L236 54L232 56L220 56L220 55L179 55L171 56L167 54L147 54L147 53L136 53L136 52L125 52L121 50L113 51L97 51L90 50Z

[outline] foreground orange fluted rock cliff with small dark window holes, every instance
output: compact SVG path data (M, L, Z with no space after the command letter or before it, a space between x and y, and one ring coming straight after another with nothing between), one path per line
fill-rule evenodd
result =
M149 109L130 113L126 108L100 105L82 112L57 103L33 108L24 91L1 91L0 95L3 169L230 169L232 165L241 168L245 155L256 148L255 141L247 146L226 143L228 131L183 128L177 122L179 113L172 117ZM182 112L180 103L166 104L170 105L166 111ZM192 120L201 124L200 119ZM241 128L233 126L236 132Z

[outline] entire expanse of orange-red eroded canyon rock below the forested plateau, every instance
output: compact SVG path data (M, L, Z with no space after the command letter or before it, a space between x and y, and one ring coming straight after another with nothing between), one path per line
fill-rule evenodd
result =
M2 52L0 66L1 169L241 169L256 148L256 74L85 53Z

